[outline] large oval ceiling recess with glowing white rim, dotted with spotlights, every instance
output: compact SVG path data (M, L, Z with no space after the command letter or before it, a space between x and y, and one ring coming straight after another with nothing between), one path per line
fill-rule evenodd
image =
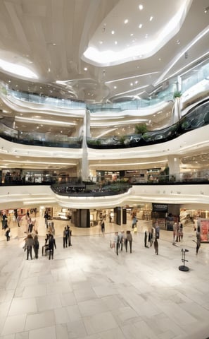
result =
M142 55L143 59L151 57L177 34L190 4L191 0L160 0L153 5L152 0L147 0L139 10L139 3L135 0L119 1L94 32L82 59L95 66L113 66L132 61L133 58L140 59ZM155 25L152 24L153 18ZM127 20L128 25L125 25ZM137 28L140 32L133 42L131 35Z

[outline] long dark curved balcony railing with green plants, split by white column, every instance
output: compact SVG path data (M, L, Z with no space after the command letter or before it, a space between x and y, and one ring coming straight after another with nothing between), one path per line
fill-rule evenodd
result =
M94 149L132 148L144 145L153 145L173 140L182 134L209 124L209 101L201 102L189 110L177 124L160 129L148 131L143 134L129 136L112 136L107 138L87 137L87 146ZM0 124L0 137L13 143L24 145L38 145L60 148L82 148L83 137L49 136L47 133L23 132Z

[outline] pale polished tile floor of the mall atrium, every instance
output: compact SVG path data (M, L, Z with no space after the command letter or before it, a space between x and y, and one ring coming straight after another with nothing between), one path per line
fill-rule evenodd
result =
M151 222L139 220L132 254L110 249L114 231L106 222L72 228L72 246L63 249L68 222L55 220L53 260L26 260L24 220L12 225L11 241L0 232L1 339L206 339L209 336L209 244L196 256L195 233L184 227L183 242L160 231L159 254L144 247ZM37 218L40 246L46 233ZM182 272L182 251L189 272Z

